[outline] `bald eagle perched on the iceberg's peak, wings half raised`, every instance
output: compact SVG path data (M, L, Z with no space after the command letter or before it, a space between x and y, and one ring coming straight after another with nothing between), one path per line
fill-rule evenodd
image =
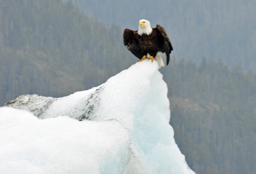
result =
M156 28L152 28L147 20L139 21L139 30L137 31L124 29L123 42L124 46L140 61L147 59L148 56L152 62L153 60L158 62L159 68L164 66L161 52L166 54L168 65L169 54L173 50L164 27L156 25Z

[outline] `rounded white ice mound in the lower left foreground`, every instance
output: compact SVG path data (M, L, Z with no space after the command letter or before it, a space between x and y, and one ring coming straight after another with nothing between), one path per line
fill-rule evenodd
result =
M0 173L122 173L129 133L118 121L39 120L0 108Z

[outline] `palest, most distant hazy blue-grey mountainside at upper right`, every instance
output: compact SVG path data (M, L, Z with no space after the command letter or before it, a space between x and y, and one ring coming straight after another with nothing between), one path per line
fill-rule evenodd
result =
M86 15L122 29L137 30L139 20L161 24L177 57L197 63L206 56L229 67L256 70L256 1L247 0L73 0Z

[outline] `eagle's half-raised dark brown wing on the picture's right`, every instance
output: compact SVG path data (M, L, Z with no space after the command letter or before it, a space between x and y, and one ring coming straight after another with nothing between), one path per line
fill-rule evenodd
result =
M171 41L169 40L169 37L167 36L167 33L164 30L164 27L161 25L156 25L156 30L158 31L158 43L159 46L162 47L162 50L165 51L165 54L167 55L167 65L169 63L169 54L171 54L172 45Z

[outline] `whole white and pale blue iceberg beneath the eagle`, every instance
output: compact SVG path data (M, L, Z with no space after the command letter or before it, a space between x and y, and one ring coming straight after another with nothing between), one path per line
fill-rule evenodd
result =
M0 108L0 173L192 174L169 125L156 61L87 91L21 95Z

